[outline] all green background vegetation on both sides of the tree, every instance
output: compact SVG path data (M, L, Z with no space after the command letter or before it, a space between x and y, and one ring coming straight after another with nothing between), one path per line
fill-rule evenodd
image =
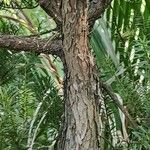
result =
M0 3L1 34L49 39L57 34L55 22L35 1ZM133 128L106 93L101 112L105 150L150 149L149 31L148 0L114 0L91 31L100 78L138 124ZM59 58L0 49L0 149L52 149L63 112L62 80Z

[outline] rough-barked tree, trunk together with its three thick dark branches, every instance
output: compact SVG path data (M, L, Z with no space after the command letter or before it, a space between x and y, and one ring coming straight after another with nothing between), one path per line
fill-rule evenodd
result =
M1 48L50 53L62 59L66 74L65 119L57 150L100 149L102 122L98 107L103 99L88 46L88 25L92 28L110 1L112 0L92 0L88 6L88 0L39 0L40 6L62 28L62 39L49 41L0 36ZM62 13L59 11L61 9Z

